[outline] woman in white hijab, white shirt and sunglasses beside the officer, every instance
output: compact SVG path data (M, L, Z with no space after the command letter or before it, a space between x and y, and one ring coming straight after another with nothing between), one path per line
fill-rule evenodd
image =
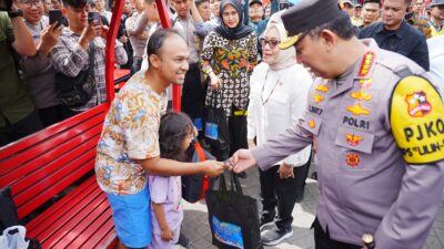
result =
M274 17L273 17L274 20ZM249 147L259 145L294 125L303 116L313 82L309 72L296 63L295 49L280 50L286 39L282 22L270 22L260 42L263 59L251 76L248 116ZM293 235L292 211L303 198L310 165L311 146L293 154L269 170L260 170L264 245L280 243ZM274 221L278 207L278 219ZM275 225L275 226L272 226Z

